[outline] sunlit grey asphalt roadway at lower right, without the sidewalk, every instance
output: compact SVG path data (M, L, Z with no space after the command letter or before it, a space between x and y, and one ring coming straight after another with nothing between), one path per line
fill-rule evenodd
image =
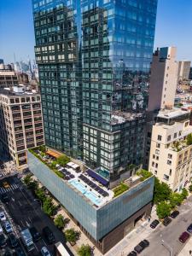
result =
M180 253L185 244L178 241L178 237L192 223L192 196L181 207L178 207L178 211L180 214L172 219L171 224L166 227L160 224L157 230L146 237L150 241L150 246L140 255L175 256Z

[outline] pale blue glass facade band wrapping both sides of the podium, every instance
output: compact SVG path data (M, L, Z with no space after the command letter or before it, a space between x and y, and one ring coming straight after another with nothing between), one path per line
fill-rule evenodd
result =
M96 241L102 239L153 199L154 177L150 177L103 207L96 207L30 152L28 152L28 166L38 180Z

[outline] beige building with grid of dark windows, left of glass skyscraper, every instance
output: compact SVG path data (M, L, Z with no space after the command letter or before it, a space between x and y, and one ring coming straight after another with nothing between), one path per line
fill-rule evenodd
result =
M26 149L44 144L41 97L22 86L0 90L0 143L20 169L26 167Z

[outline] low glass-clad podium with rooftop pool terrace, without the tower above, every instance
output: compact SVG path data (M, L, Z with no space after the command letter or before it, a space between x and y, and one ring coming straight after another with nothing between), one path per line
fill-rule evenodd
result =
M51 151L46 152L51 158L61 155ZM133 175L109 189L107 179L90 169L80 171L72 162L64 168L56 165L57 171L51 170L49 155L42 154L38 148L29 149L30 171L102 253L123 239L139 219L150 215L154 176Z

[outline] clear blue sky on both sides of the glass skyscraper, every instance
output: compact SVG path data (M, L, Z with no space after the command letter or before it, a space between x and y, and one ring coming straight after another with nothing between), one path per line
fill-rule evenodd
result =
M0 58L33 59L31 0L0 0ZM192 61L192 0L159 0L154 48L177 46L177 59Z

